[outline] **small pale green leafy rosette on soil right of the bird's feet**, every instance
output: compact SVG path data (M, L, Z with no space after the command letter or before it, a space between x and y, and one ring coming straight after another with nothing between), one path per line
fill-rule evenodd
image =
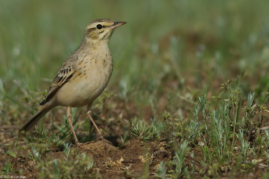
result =
M131 132L131 134L138 137L139 140L148 140L148 139L150 139L150 135L145 136L145 134L148 132L149 129L150 128L146 128L145 122L138 120L136 123L136 127L132 123L133 132Z

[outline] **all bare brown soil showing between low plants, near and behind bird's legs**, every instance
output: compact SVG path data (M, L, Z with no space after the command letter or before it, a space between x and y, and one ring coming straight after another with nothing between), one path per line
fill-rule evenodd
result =
M165 95L164 95L165 96ZM115 100L111 100L115 102ZM164 101L164 102L162 102ZM129 139L127 144L125 146L121 146L120 137L123 132L124 128L129 127L130 128L130 122L127 119L133 119L138 114L137 106L134 105L126 105L124 102L117 102L117 105L111 105L114 106L113 109L108 108L104 105L103 113L99 114L97 125L99 128L106 129L104 130L104 136L111 141L115 146L112 146L108 143L106 143L107 149L105 150L104 143L102 141L97 141L95 143L91 143L88 145L81 146L81 148L77 149L76 147L71 148L71 150L75 150L77 153L86 153L88 156L91 156L95 162L95 169L94 172L99 172L101 175L101 178L156 178L154 176L155 173L158 172L157 168L160 167L160 163L163 161L164 163L167 161L172 161L174 157L174 151L168 147L168 144L166 142L166 136L162 136L162 140L149 140L149 141L141 141L136 138ZM165 109L165 102L166 99L160 98L159 100L159 108L160 111L163 111ZM111 102L112 103L112 102ZM164 105L164 106L163 106ZM126 108L125 106L129 106ZM130 107L131 106L131 107ZM144 119L146 123L150 123L150 119L152 118L153 114L151 111L151 108L148 106L145 106L143 109L144 112ZM80 111L78 111L80 112ZM97 111L98 112L98 111ZM54 120L54 123L61 123L62 119L61 117L57 116L63 116L65 113L65 109L57 109L56 117ZM188 110L183 110L184 116L189 115ZM186 114L185 114L186 113ZM29 115L29 114L28 114ZM104 122L102 119L110 119L111 116L121 116L120 122L117 122L117 120L106 120ZM27 116L28 117L28 116ZM48 117L50 118L50 116ZM86 112L82 112L80 115L80 118L86 119ZM264 121L263 123L268 125L268 120ZM51 123L49 120L44 120L44 125L46 128L51 128ZM14 131L17 130L19 126L17 125L6 125L1 126L3 129L0 131L0 141L1 144L3 144L3 147L0 148L1 153L7 153L7 149L9 149L9 146L15 146L14 143L16 141L16 136L14 136ZM80 130L82 131L82 128L80 126ZM95 131L95 129L93 129ZM96 131L95 131L96 133ZM113 136L110 136L108 134L113 133ZM13 134L13 136L11 135ZM73 136L70 135L73 140ZM80 135L81 136L81 135ZM24 145L23 136L20 137L19 145ZM8 141L8 142L4 142ZM209 140L208 140L209 141ZM72 141L74 143L74 141ZM80 142L86 142L81 141ZM178 141L177 141L178 142ZM197 141L198 143L198 141ZM208 145L208 144L206 144ZM238 148L240 143L238 141ZM200 166L199 161L205 161L206 159L203 156L203 153L200 152L199 148L197 146L192 146L190 152L194 152L195 159L198 161L198 163L193 163L193 159L186 157L185 159L185 166L191 167L193 166L194 172L191 173L192 178L204 178L209 177L212 178L212 174L210 173L212 169L210 167L213 165L213 163L209 163L207 166ZM13 151L16 151L15 149ZM28 153L31 152L31 149L23 149L23 147L20 148L18 151L17 157L14 158L8 154L1 157L1 163L0 163L0 171L2 170L5 163L11 163L12 166L10 168L13 169L13 171L22 170L22 176L25 176L26 178L40 178L38 173L40 172L39 169L37 169L37 162L34 162L31 160L28 156ZM49 152L45 152L45 154L42 156L42 160L44 161L51 161L54 159L64 160L65 153L63 152L63 149L59 149L59 147L53 147L49 150ZM5 162L2 162L2 159L5 159ZM255 158L252 155L249 155L247 161L251 160L260 160L259 158ZM264 158L262 158L263 160ZM218 178L254 178L258 179L261 178L261 176L264 175L265 172L269 171L268 165L266 165L266 162L262 162L257 165L253 165L253 168L245 168L245 169L236 169L235 163L240 162L233 159L229 163L226 163L223 166L218 166L216 171L218 174ZM170 168L166 168L167 171L170 169L174 169L173 166ZM51 170L53 170L53 166L51 165ZM200 172L200 171L203 172ZM17 173L12 173L12 175L17 175ZM216 175L215 175L216 176Z

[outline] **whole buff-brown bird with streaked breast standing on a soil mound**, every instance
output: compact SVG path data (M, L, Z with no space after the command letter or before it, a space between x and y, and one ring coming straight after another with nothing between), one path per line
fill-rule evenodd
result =
M63 63L54 78L43 105L28 120L20 131L28 131L48 111L56 106L66 106L66 116L75 137L77 147L82 145L77 140L72 121L71 107L88 105L87 115L99 134L105 140L91 117L92 102L104 91L111 77L113 60L108 48L108 41L114 28L126 22L114 22L110 19L97 19L90 22L84 30L80 46Z

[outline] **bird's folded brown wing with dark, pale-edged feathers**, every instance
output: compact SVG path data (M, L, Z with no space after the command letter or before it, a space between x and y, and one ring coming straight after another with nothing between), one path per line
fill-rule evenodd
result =
M69 56L69 58L63 63L58 74L56 75L53 82L51 83L46 99L42 101L40 105L44 105L46 102L48 102L48 100L51 99L54 96L54 94L66 82L70 80L70 78L72 78L73 74L75 73L74 66L73 66L75 60L77 60L77 56L75 56L74 53L72 53L72 55Z

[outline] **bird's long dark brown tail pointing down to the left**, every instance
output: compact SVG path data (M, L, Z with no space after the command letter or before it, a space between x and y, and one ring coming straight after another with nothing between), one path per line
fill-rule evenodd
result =
M39 109L39 111L34 114L31 119L27 121L27 123L19 130L19 131L28 131L31 127L33 127L45 114L47 114L48 111L50 111L55 106L49 105L49 102L46 103L42 108Z

